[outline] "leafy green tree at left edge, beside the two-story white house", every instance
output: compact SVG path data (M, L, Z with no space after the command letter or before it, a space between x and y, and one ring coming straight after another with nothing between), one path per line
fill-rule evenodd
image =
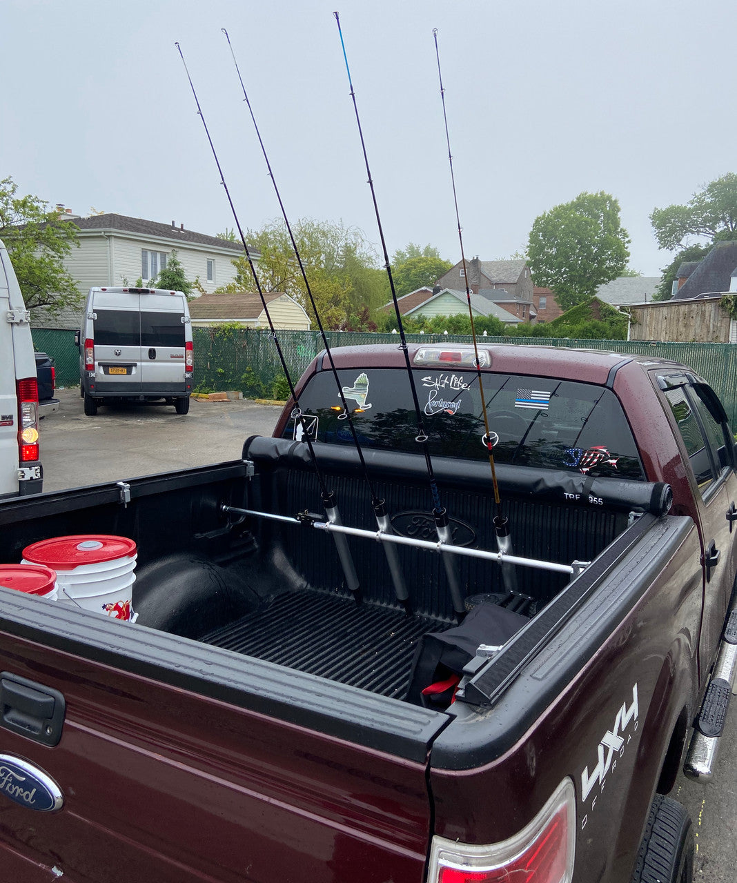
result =
M11 256L28 309L58 313L79 306L82 295L64 259L79 246L77 227L36 196L18 196L11 177L0 181L0 239Z

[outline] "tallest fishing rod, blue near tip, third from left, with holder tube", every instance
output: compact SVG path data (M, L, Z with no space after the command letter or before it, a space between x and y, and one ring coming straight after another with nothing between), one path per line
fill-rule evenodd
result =
M340 27L340 16L338 12L333 12L335 16L336 23L338 25L338 34L340 36L340 45L343 49L343 58L346 62L346 72L348 74L348 85L351 88L351 98L353 100L353 111L356 117L356 124L358 125L358 133L359 138L361 139L361 150L363 151L363 162L366 165L366 174L369 176L369 187L371 188L371 199L374 203L374 214L376 215L376 226L378 227L379 238L381 240L382 251L384 253L384 267L386 268L386 274L389 277L389 288L391 290L391 300L394 304L394 313L397 318L397 325L399 327L399 339L401 343L399 344L399 349L404 353L405 358L405 366L406 373L409 378L409 387L412 390L412 399L414 403L414 414L417 419L417 435L415 436L414 441L421 445L422 453L425 457L425 465L428 472L429 479L429 487L430 494L432 495L433 509L432 515L435 520L435 529L437 532L437 537L441 541L441 543L452 544L452 535L451 529L448 522L448 511L444 508L442 503L440 502L440 492L437 489L437 481L435 479L435 472L433 472L432 468L432 459L430 457L429 445L428 445L428 434L425 431L424 422L422 420L422 411L420 410L420 400L417 397L417 389L414 385L414 375L412 373L412 363L409 358L409 351L407 349L406 343L406 335L404 329L404 323L402 322L402 315L399 311L399 298L397 298L397 291L394 287L394 279L391 275L391 262L389 260L389 252L386 248L386 240L384 238L384 228L381 223L381 216L379 215L379 207L378 202L376 201L376 188L374 187L374 180L371 177L371 169L369 167L369 155L366 152L366 142L363 139L363 130L361 128L361 117L358 112L358 103L356 102L356 95L353 89L353 79L351 79L351 69L348 65L348 56L346 53L346 43L343 40L343 31ZM460 582L458 578L458 574L456 573L455 566L452 558L448 555L443 556L445 574L448 579L448 585L451 590L453 609L456 614L459 616L463 616L466 613L466 606L463 599L463 593L460 589Z

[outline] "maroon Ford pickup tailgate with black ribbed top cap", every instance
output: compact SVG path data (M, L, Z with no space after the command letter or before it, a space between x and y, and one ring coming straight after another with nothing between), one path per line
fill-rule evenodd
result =
M0 798L19 879L422 880L443 714L9 590L0 649L66 705L56 747L0 728L64 796Z

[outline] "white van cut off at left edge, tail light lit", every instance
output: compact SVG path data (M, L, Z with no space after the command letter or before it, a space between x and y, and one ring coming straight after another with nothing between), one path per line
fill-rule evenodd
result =
M38 420L30 315L0 241L0 499L43 489Z

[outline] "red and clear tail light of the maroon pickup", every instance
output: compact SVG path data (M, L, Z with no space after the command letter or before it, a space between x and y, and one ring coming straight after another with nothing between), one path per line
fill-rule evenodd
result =
M428 883L569 883L574 875L574 784L564 779L519 834L477 846L433 837Z

